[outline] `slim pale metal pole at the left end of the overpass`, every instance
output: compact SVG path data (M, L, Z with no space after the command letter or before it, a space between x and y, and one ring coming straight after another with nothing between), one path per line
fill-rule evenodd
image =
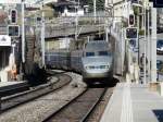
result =
M42 25L41 25L41 48L42 48L42 66L45 66L45 12L42 4Z

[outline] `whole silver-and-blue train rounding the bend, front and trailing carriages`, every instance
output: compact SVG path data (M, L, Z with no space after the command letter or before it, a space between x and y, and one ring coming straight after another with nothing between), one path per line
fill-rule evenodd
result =
M89 41L83 50L46 52L47 68L79 72L86 83L90 78L112 78L113 60L113 50L104 40Z

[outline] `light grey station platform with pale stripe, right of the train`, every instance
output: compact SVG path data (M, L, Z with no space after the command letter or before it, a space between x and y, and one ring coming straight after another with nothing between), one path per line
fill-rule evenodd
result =
M118 83L100 122L163 122L163 96L148 85Z

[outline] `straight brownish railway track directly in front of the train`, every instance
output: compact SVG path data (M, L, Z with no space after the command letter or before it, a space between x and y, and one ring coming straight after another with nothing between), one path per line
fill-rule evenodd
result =
M85 122L102 99L106 88L87 88L43 122Z

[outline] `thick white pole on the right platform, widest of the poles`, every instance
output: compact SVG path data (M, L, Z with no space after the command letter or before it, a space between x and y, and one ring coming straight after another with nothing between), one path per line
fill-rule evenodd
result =
M152 35L151 35L151 82L156 82L156 9L151 9Z

